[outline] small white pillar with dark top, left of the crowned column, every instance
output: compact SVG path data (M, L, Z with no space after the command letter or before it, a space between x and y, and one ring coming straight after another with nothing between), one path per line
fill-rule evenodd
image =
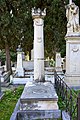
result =
M19 45L17 49L17 68L16 68L16 72L18 73L18 76L24 76L22 53L23 53L22 48Z

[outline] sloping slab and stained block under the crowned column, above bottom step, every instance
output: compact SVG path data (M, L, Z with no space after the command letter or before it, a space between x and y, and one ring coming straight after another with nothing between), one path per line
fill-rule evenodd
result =
M21 110L58 110L58 96L53 84L28 83L20 98Z

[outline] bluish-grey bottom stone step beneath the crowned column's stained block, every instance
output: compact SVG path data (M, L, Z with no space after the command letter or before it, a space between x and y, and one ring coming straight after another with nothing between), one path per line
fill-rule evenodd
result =
M18 118L20 120L38 120L38 119L54 119L61 118L60 110L28 110L18 111Z

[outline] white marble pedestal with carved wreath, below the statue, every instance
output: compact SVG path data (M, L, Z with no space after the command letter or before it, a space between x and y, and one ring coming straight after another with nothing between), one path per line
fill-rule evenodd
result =
M80 87L80 34L66 36L65 81L70 87Z

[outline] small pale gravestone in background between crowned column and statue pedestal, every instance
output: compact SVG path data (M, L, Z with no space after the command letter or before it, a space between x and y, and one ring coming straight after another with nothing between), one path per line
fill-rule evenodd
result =
M61 67L61 54L56 53L56 71L57 72L62 72L62 67Z

